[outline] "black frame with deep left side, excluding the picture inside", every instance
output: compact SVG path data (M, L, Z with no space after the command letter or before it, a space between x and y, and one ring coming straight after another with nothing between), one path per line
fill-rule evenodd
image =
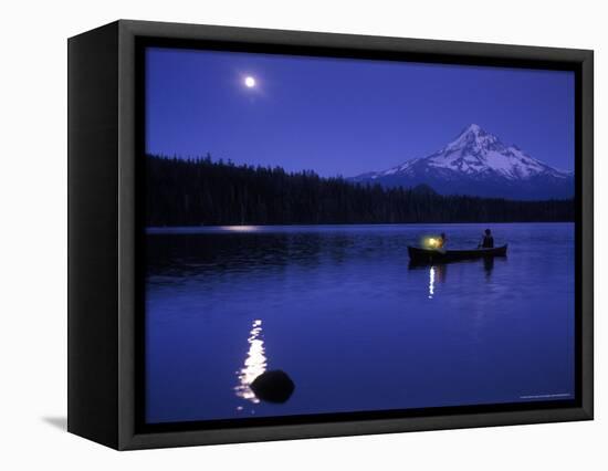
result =
M146 45L572 70L576 399L180 425L143 421ZM593 51L120 20L69 40L69 431L119 450L593 419Z

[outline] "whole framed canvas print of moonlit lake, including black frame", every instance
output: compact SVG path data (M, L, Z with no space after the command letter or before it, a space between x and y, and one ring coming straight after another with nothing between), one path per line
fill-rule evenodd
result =
M70 431L593 418L593 52L118 21L69 59Z

